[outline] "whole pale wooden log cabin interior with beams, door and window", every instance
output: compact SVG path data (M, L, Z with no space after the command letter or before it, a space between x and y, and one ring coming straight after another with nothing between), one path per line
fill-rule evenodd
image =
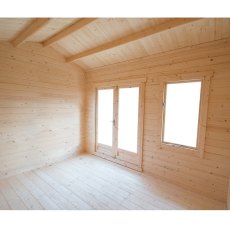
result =
M0 18L0 209L230 209L229 18Z

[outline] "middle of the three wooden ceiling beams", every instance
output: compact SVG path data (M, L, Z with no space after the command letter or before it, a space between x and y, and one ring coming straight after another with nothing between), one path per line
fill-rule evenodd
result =
M96 20L96 18L82 18L80 20L77 20L70 26L67 26L63 30L59 31L58 33L54 34L47 40L43 41L42 44L43 46L48 46L53 44L54 42L57 42L61 40L62 38L68 36L69 34L76 32L77 30L81 29L82 27L86 26L87 24L93 22Z

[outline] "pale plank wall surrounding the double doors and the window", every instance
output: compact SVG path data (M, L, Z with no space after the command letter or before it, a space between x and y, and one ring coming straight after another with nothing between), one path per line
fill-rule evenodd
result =
M213 72L204 158L162 150L159 139L164 76ZM230 176L230 39L218 40L88 71L86 147L94 151L94 81L147 77L143 170L191 191L226 202Z

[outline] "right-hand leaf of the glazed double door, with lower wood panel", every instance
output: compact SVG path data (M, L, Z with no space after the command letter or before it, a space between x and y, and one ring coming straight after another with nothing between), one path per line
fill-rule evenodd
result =
M140 87L118 87L117 158L138 163Z

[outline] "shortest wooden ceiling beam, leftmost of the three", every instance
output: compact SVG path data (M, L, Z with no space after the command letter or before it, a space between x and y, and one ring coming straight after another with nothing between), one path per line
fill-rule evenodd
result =
M12 41L13 46L18 46L23 43L28 37L41 29L49 18L35 18L25 29L23 29Z

